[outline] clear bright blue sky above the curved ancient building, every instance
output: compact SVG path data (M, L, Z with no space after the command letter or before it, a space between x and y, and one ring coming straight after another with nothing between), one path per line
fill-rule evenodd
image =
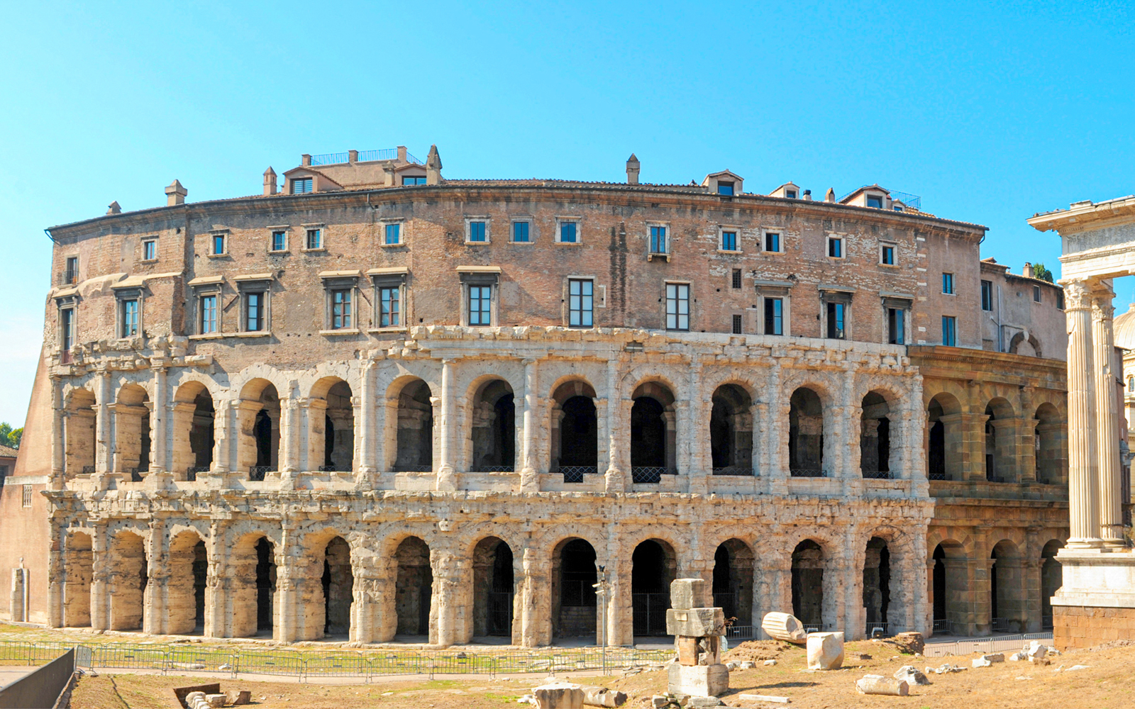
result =
M932 9L924 6L938 6ZM1058 271L1039 211L1135 192L1129 3L0 0L0 420L27 408L44 227L255 194L301 153L436 143L447 177L823 197L878 183ZM1130 286L1120 292L1132 298ZM1126 292L1126 293L1125 293Z

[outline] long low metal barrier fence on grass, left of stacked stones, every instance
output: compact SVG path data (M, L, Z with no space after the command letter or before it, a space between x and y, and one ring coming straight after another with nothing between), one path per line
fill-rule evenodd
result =
M579 650L513 650L494 653L429 652L375 649L350 652L233 652L220 648L106 644L76 645L60 642L0 642L0 661L40 665L67 650L76 650L76 665L107 669L140 669L163 675L183 672L295 677L318 682L321 677L355 677L370 682L385 675L490 675L661 667L673 650L636 650L611 647Z

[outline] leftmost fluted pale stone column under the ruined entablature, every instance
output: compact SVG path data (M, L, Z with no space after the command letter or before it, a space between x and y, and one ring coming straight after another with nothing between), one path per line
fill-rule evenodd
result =
M1092 295L1083 280L1065 285L1068 327L1068 547L1099 547L1100 478L1096 455Z

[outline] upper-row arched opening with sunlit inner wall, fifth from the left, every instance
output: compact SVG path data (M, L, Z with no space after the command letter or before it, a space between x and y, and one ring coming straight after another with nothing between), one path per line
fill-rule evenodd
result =
M351 386L325 377L311 388L308 403L308 466L322 472L351 472L354 466L354 405Z

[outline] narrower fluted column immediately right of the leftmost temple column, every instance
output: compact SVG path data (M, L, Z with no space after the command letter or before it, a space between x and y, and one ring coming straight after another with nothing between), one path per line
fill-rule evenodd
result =
M1119 407L1112 361L1116 343L1111 319L1116 297L1101 282L1092 293L1092 372L1095 374L1095 451L1100 459L1100 537L1108 547L1126 547L1124 537L1121 471L1119 467Z

